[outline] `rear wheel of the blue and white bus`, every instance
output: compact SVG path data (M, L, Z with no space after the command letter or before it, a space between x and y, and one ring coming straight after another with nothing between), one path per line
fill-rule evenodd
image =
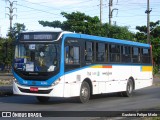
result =
M127 82L126 91L122 92L122 95L124 97L131 97L133 95L133 90L134 90L133 81L129 79Z

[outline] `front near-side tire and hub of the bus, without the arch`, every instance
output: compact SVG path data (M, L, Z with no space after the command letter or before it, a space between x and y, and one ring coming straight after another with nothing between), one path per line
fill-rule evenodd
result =
M90 98L90 87L86 81L83 81L80 89L79 102L87 103Z

